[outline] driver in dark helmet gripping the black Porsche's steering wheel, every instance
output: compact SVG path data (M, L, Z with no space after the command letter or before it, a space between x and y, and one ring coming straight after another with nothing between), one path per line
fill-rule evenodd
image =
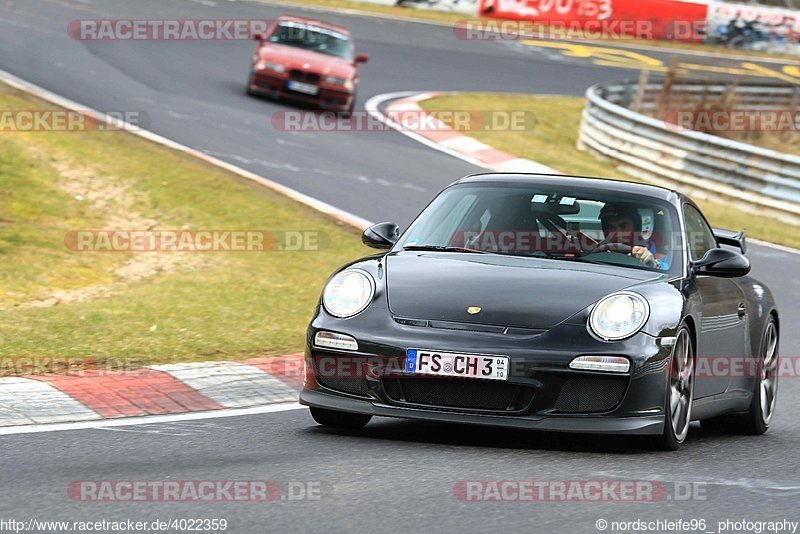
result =
M648 267L669 269L669 256L658 253L652 237L643 239L642 216L634 206L608 203L600 210L599 218L605 243L630 247L630 255Z

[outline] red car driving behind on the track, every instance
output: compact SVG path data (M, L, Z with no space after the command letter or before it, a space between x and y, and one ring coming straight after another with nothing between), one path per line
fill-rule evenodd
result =
M257 34L251 95L286 98L350 112L356 101L358 64L350 32L335 24L283 15L266 35Z

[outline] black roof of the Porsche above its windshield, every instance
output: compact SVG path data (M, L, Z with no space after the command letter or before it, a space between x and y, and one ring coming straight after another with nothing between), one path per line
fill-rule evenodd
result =
M662 200L673 200L678 193L665 187L655 185L612 180L610 178L592 178L587 176L566 176L561 174L534 173L481 173L470 174L451 185L463 183L508 183L536 184L543 186L572 186L580 188L597 188L605 191L639 194Z

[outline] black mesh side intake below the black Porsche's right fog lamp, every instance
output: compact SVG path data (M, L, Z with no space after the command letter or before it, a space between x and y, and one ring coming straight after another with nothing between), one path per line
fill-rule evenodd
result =
M561 386L554 408L562 413L607 412L622 402L627 386L624 376L570 378Z

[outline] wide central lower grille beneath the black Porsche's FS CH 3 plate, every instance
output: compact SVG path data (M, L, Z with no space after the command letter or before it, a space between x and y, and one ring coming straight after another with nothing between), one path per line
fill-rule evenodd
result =
M527 408L533 388L468 378L384 378L394 402L443 408L518 412Z

